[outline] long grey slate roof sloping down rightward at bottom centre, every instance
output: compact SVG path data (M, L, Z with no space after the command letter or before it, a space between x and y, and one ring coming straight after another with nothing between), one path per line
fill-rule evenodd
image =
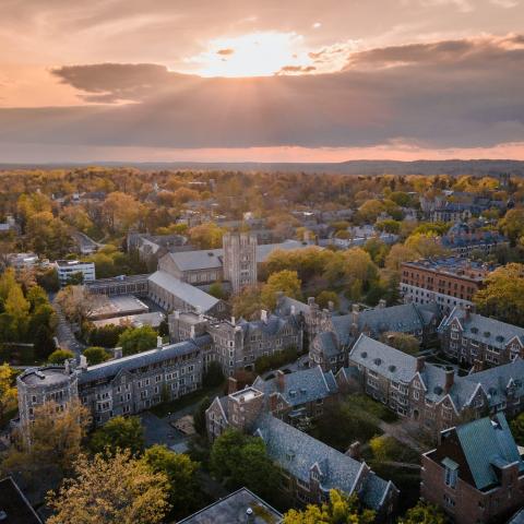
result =
M261 416L255 434L264 440L269 456L294 477L309 483L311 467L317 464L322 474L323 490L340 489L348 495L355 491L359 480L364 480L362 488L358 491L360 499L372 509L380 509L380 502L392 485L374 474L376 478L364 479L362 476L367 473L365 463L271 415Z

